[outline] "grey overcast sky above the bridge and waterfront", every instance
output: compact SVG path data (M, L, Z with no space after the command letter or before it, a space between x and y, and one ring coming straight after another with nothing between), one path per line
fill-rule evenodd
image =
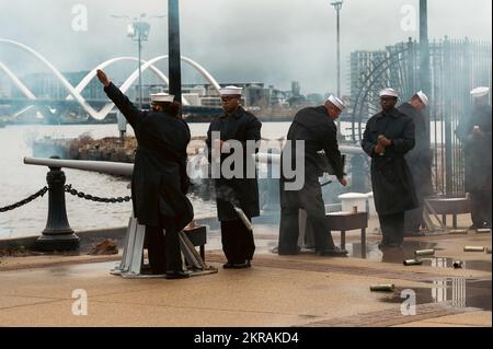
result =
M219 82L259 81L288 90L290 81L297 80L302 93L334 91L335 11L331 1L182 0L182 55L199 62ZM136 55L136 44L126 37L128 20L113 19L111 14L167 14L167 3L165 0L0 0L0 37L35 48L59 70L89 70L112 57ZM87 31L72 28L77 16L72 9L77 4L88 10ZM348 91L352 51L383 48L419 36L417 31L402 26L402 23L412 26L406 21L410 12L405 5L417 11L419 0L344 0L343 92ZM491 42L491 0L428 0L429 37L468 36ZM168 54L167 20L150 22L145 59ZM45 70L25 53L3 44L0 60L19 75ZM160 67L167 69L165 63ZM126 77L134 68L119 65L108 70ZM185 66L183 70L185 82L204 81L191 68Z

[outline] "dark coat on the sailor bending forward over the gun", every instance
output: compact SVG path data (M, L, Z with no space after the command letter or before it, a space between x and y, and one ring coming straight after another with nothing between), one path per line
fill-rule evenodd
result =
M326 161L332 166L335 176L344 177L343 161L337 146L337 127L329 118L324 106L308 107L299 110L289 127L287 140L290 142L291 154L298 152L298 156L305 160L305 185L300 190L286 190L285 184L295 179L286 178L286 174L280 176L280 206L283 208L305 208L311 211L316 207L319 211L324 211L322 189L319 177L323 175L322 161L319 151L324 151ZM296 147L296 141L305 141L305 151ZM286 148L283 153L286 152ZM284 168L284 156L282 158ZM296 168L296 158L291 158L290 168Z

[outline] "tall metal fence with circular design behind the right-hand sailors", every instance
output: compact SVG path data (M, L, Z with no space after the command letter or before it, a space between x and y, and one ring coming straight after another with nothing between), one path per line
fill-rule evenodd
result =
M351 55L352 139L360 140L362 124L380 110L380 89L392 86L406 101L419 90L420 43L410 39L376 51ZM465 195L465 162L462 144L455 131L460 120L470 117L470 91L491 86L491 43L450 39L447 36L429 43L431 106L429 139L434 154L433 185L436 195ZM433 142L434 141L434 142Z

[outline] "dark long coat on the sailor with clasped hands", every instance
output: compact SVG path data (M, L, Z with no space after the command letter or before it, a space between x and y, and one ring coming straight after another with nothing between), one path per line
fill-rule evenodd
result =
M385 135L392 144L385 155L374 149L378 136ZM379 214L392 214L419 207L414 183L404 155L414 148L414 121L393 108L378 113L366 124L363 150L371 158L371 186Z

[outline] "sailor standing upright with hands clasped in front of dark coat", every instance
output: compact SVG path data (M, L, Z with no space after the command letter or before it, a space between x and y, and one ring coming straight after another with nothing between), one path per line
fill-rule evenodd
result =
M362 141L371 158L371 186L383 235L380 247L402 244L404 211L419 207L404 158L414 148L414 121L395 108L397 101L394 90L380 92L382 112L368 120Z

